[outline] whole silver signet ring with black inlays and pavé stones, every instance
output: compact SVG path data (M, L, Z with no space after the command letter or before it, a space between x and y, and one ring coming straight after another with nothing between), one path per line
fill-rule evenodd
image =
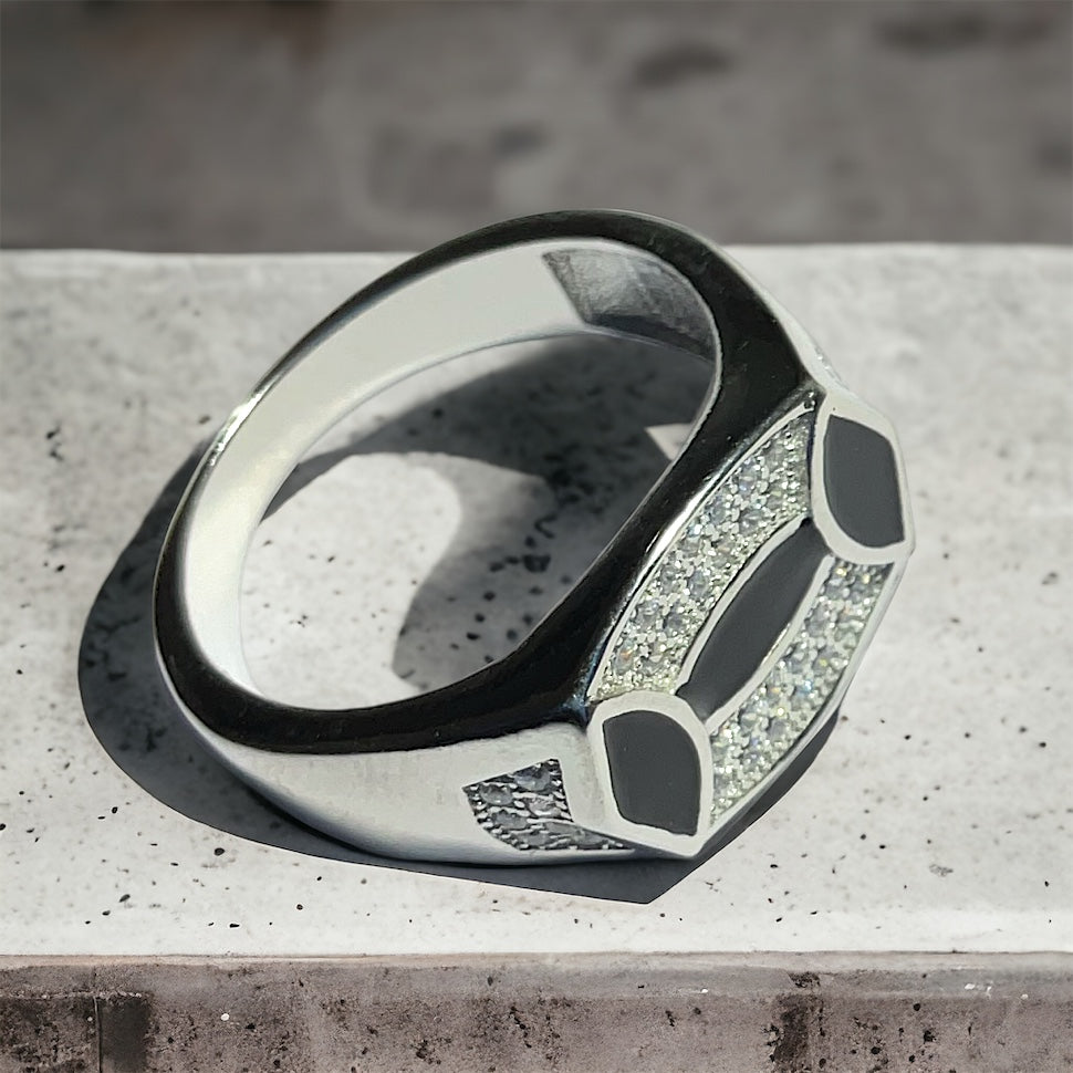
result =
M512 653L392 704L253 684L239 596L302 455L393 383L476 351L612 335L706 362L685 446ZM388 272L223 423L171 521L154 627L210 751L310 825L396 857L690 858L808 767L913 545L889 423L725 253L674 225L558 212Z

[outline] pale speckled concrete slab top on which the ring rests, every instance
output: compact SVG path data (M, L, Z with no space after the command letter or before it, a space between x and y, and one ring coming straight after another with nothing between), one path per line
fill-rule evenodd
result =
M0 950L1073 949L1073 257L738 252L895 419L916 558L843 725L737 842L691 872L528 875L385 866L299 827L196 750L153 669L147 586L195 445L392 259L6 254ZM262 677L301 692L326 668L327 691L400 692L514 643L660 465L613 418L666 431L695 390L685 373L646 386L643 356L610 379L575 358L396 399L400 416L382 406L311 460L298 483L323 476L250 566ZM591 396L563 397L574 366ZM571 415L581 427L554 427ZM606 448L613 472L594 472Z

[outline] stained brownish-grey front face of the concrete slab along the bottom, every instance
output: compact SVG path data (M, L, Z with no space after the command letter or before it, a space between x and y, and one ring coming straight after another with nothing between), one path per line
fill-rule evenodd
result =
M0 965L0 1073L1062 1073L1069 960Z

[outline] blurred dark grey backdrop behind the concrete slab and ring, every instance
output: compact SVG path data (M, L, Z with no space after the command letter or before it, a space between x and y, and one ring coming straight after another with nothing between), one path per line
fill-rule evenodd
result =
M8 247L1073 241L1065 0L0 7Z

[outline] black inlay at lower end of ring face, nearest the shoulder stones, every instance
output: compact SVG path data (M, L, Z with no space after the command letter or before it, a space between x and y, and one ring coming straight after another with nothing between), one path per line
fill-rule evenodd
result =
M696 834L700 761L689 735L657 711L627 711L604 723L611 786L632 823Z

